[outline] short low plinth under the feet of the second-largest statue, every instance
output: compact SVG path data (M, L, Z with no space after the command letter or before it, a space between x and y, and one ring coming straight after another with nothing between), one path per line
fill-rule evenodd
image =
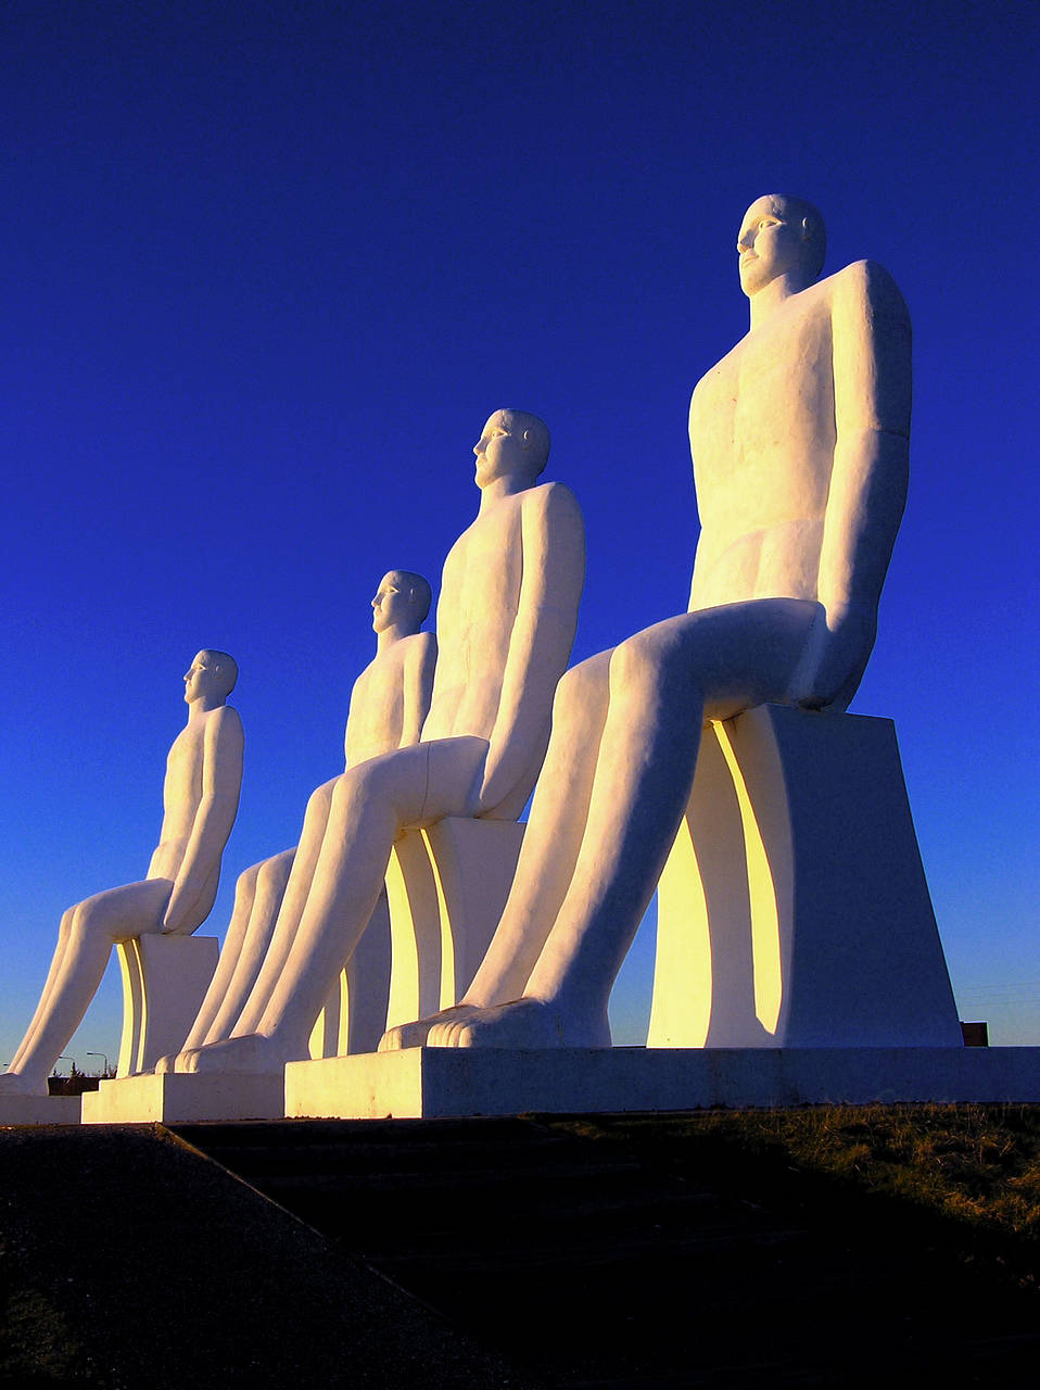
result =
M186 1125L277 1120L285 1115L281 1074L124 1076L83 1097L83 1125Z

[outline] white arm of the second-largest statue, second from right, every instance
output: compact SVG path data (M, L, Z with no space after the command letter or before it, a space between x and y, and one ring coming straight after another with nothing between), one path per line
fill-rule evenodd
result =
M499 806L530 771L566 670L585 578L585 528L573 492L559 482L524 498L523 578L509 639L495 727L491 733L478 813Z

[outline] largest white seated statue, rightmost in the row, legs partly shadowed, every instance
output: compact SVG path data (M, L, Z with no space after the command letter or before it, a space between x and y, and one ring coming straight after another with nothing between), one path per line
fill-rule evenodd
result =
M513 890L459 1005L402 1047L609 1047L608 998L687 805L702 724L843 710L907 492L911 332L879 265L818 282L824 231L758 199L737 240L751 329L690 404L690 606L560 681Z

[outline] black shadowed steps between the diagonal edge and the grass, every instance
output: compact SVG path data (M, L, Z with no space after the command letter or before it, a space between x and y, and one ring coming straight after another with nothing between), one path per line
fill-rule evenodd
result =
M726 1145L674 1162L665 1125L179 1133L546 1384L1034 1384L1037 1295L951 1259L934 1222Z

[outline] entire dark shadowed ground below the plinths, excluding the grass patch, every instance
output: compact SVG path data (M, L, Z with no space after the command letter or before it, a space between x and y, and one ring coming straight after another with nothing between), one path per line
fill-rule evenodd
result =
M0 1130L0 1236L8 1384L1032 1387L1040 1366L1034 1240L752 1151L740 1118Z

